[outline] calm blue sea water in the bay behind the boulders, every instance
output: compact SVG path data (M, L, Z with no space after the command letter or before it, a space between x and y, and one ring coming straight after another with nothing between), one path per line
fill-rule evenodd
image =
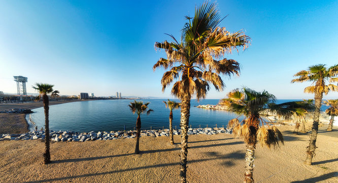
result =
M141 115L141 129L162 129L169 127L169 109L165 108L162 99L142 100L150 102L149 108L154 111L150 115ZM191 100L189 125L192 128L226 126L228 120L237 117L236 114L223 110L208 110L194 106L211 104L216 105L219 100L206 99ZM292 101L279 100L278 103ZM70 130L76 132L90 131L118 131L133 130L136 126L137 114L132 114L128 104L133 100L97 100L71 102L49 106L49 128L50 130ZM45 116L43 107L32 109L35 113L31 114L32 120L38 129L44 127ZM180 128L180 109L173 111L173 126ZM29 115L26 115L28 120ZM240 118L240 119L243 119ZM32 129L31 129L32 130Z

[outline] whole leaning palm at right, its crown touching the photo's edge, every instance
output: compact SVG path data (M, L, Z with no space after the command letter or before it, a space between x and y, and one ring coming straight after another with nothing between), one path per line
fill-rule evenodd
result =
M330 68L326 68L323 64L318 64L315 66L310 66L309 70L299 71L294 76L299 77L292 79L291 83L294 82L305 82L311 81L312 84L304 89L304 93L314 93L315 94L315 112L313 117L312 133L310 137L310 144L307 147L307 158L305 160L306 165L311 165L312 158L315 156L317 133L318 133L318 124L320 116L320 107L322 106L323 94L327 95L328 92L338 91L338 86L331 84L331 82L337 82L338 78L338 64ZM325 81L329 82L328 85L325 84Z

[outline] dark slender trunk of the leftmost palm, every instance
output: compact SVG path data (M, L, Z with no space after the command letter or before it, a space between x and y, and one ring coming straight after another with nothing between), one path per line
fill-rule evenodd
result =
M44 153L44 163L50 163L50 143L49 143L49 100L46 94L43 95L43 103L45 110L45 153Z

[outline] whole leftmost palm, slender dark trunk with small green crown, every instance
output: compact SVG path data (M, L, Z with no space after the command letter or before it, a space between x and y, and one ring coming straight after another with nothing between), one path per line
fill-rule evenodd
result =
M34 89L39 91L39 96L36 100L40 100L42 98L42 101L44 103L44 110L45 110L45 153L44 153L44 163L48 164L50 163L50 150L49 150L49 99L47 94L53 93L53 87L52 84L46 84L46 83L35 83L35 86L32 86ZM54 91L55 92L55 91Z

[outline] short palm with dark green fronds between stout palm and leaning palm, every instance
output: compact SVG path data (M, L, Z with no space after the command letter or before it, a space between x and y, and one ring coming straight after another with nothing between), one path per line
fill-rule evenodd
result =
M313 100L303 100L303 101L293 101L293 102L285 102L282 104L271 103L269 105L270 109L273 109L277 115L284 117L293 117L296 120L296 126L293 133L298 134L299 122L302 123L301 133L306 133L305 131L305 123L306 123L306 115L309 112L313 112L315 106L313 104Z

